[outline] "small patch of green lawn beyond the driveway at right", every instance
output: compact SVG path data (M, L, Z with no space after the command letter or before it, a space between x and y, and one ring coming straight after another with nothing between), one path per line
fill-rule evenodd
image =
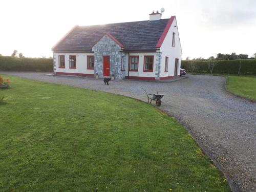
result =
M226 87L229 91L256 100L256 76L226 75Z

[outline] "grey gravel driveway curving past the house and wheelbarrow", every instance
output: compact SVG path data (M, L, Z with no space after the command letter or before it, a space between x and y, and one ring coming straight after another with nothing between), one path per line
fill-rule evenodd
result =
M224 77L188 75L189 78L170 83L124 80L111 81L110 86L104 86L96 79L2 73L117 93L143 101L147 100L143 90L165 93L161 109L184 124L229 178L232 190L256 191L256 103L227 93Z

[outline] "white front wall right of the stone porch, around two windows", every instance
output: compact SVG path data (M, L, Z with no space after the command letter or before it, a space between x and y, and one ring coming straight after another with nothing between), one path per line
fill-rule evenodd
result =
M144 72L144 56L154 56L154 64L153 64L153 72ZM156 52L152 53L130 53L130 56L139 56L139 66L138 66L138 71L130 71L129 76L131 77L156 77L155 72L156 72ZM128 76L128 57L126 58L126 63L127 65L125 66L125 76Z

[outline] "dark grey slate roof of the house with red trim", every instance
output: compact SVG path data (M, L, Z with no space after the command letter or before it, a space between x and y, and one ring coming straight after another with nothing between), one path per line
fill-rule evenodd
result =
M155 50L168 20L78 26L62 39L53 51L91 51L92 46L105 33L114 36L125 50Z

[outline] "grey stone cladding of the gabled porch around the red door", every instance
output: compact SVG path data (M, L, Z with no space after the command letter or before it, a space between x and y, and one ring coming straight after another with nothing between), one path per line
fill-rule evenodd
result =
M98 73L101 77L103 76L103 56L110 56L110 76L113 74L115 78L121 79L125 78L125 72L121 71L121 57L125 55L122 52L121 47L116 44L114 40L112 40L107 35L104 35L92 48L94 52L94 74Z

